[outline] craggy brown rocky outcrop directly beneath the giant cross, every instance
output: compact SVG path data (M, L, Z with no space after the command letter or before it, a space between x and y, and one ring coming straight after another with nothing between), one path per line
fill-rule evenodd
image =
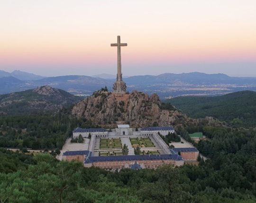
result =
M93 96L77 103L72 115L85 117L102 126L116 126L117 123L128 123L132 127L177 126L188 123L198 125L201 122L199 119L188 118L172 106L166 108L157 94L149 96L137 91L124 95L95 92Z

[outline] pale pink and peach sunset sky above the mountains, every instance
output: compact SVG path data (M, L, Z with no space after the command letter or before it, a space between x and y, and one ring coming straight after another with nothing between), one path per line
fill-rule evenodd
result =
M0 69L256 77L256 0L0 0Z

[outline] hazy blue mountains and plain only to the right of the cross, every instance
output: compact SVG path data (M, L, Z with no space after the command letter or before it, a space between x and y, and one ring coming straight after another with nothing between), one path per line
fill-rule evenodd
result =
M131 76L124 81L128 91L157 93L160 98L185 95L221 95L243 90L256 90L256 78L230 77L225 74L165 73L158 76Z

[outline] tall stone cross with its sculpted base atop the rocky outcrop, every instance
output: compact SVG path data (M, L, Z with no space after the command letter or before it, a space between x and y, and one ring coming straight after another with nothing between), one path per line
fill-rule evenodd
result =
M118 48L118 73L117 80L114 83L113 90L117 93L125 93L126 92L126 84L122 79L122 68L121 68L121 46L127 46L127 43L121 43L120 36L117 37L118 42L112 43L110 46L116 46Z

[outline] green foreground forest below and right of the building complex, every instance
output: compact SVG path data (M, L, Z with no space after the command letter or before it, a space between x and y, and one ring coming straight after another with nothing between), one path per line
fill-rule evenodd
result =
M77 122L77 121L76 121ZM192 130L192 129L188 129ZM194 129L198 130L198 129ZM256 131L202 127L198 166L110 172L57 161L48 153L0 150L5 203L254 203Z

